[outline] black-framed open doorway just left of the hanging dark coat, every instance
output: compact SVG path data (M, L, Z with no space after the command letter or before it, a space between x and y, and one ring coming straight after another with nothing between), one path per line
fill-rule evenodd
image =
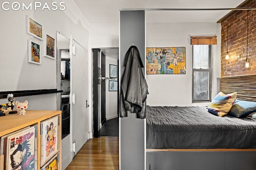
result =
M108 120L118 118L118 48L92 49L93 57L93 129L100 129ZM119 119L118 119L119 121ZM119 126L118 126L119 127Z

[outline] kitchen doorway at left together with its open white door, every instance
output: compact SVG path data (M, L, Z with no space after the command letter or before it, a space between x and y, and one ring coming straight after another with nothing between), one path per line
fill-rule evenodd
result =
M57 109L62 109L62 167L66 168L89 139L88 51L59 32L56 44L57 88L63 90L57 96Z

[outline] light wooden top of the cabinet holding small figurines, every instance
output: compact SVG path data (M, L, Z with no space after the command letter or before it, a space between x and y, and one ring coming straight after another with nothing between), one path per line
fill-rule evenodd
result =
M60 110L26 110L25 115L6 113L0 117L0 137L58 114L61 115Z

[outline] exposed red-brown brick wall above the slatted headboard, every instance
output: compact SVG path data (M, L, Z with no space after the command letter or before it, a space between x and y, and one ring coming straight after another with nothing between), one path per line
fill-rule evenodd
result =
M250 2L248 7L256 7L256 0ZM221 76L256 74L256 10L248 10L248 48L247 10L237 11L223 21L221 26ZM225 59L227 47L228 60ZM250 63L249 68L244 66L246 53Z

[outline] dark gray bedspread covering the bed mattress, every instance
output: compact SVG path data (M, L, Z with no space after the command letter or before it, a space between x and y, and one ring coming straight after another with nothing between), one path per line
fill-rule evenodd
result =
M203 106L147 106L147 149L256 147L255 118L218 117Z

